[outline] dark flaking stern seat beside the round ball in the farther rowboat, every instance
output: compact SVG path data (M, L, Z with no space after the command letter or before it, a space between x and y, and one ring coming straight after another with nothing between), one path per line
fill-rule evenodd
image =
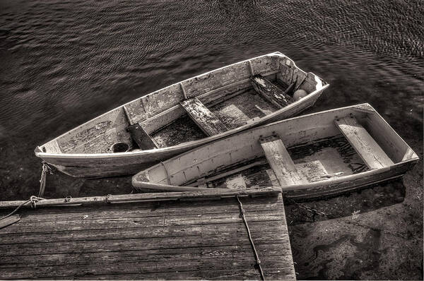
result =
M252 86L255 91L259 92L262 97L274 104L278 108L283 108L293 102L292 98L287 95L281 88L273 85L266 78L255 75L252 76Z

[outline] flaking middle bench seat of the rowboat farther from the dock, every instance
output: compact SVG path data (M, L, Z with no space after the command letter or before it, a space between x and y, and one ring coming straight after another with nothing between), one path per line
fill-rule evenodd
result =
M206 135L213 136L227 131L227 127L197 97L180 102L194 123Z

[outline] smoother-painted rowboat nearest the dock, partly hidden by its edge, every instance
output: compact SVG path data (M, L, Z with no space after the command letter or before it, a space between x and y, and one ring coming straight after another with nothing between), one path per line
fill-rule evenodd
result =
M281 186L288 198L352 191L401 177L418 156L370 104L252 128L160 162L138 191Z

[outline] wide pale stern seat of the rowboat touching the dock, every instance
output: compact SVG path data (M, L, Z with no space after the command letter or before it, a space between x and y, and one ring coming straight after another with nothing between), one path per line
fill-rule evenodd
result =
M335 119L334 123L370 169L394 165L370 133L353 117Z

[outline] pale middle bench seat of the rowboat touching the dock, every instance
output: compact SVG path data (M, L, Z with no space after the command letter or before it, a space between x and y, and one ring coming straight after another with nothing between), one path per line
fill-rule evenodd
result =
M287 185L305 183L305 180L298 174L295 163L288 154L283 141L278 136L261 138L259 142L282 188Z

